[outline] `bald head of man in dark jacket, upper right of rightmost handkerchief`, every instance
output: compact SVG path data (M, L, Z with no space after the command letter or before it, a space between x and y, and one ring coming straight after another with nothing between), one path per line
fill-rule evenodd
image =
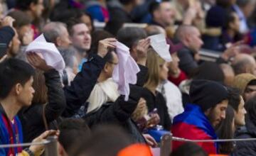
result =
M198 52L203 45L201 33L194 26L179 26L175 33L175 38L180 40L187 48Z

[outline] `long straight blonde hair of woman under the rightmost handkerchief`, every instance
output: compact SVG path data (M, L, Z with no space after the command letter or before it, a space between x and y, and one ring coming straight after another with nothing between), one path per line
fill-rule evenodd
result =
M147 89L156 88L160 83L160 67L164 65L165 60L162 59L153 48L149 48L146 60L146 67L148 74L146 76L146 83L144 87Z

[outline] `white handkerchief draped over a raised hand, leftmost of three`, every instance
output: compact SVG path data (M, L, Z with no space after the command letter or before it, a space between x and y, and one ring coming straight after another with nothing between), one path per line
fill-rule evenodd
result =
M48 43L43 34L33 40L32 43L26 48L26 52L38 52L46 60L46 64L56 69L58 72L62 72L65 68L65 62L60 52L53 43Z

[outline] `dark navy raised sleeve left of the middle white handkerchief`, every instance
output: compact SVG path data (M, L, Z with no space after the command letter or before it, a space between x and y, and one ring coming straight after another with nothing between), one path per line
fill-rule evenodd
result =
M85 104L93 87L95 87L97 78L100 76L105 63L104 58L92 54L90 59L82 65L82 71L75 76L70 87L64 88L67 102L67 106L63 112L64 117L73 116Z

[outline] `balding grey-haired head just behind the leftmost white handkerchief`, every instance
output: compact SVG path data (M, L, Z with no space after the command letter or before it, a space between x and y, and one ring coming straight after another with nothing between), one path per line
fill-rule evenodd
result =
M50 43L54 43L57 47L68 48L70 39L68 30L64 23L50 22L43 27L43 35Z

